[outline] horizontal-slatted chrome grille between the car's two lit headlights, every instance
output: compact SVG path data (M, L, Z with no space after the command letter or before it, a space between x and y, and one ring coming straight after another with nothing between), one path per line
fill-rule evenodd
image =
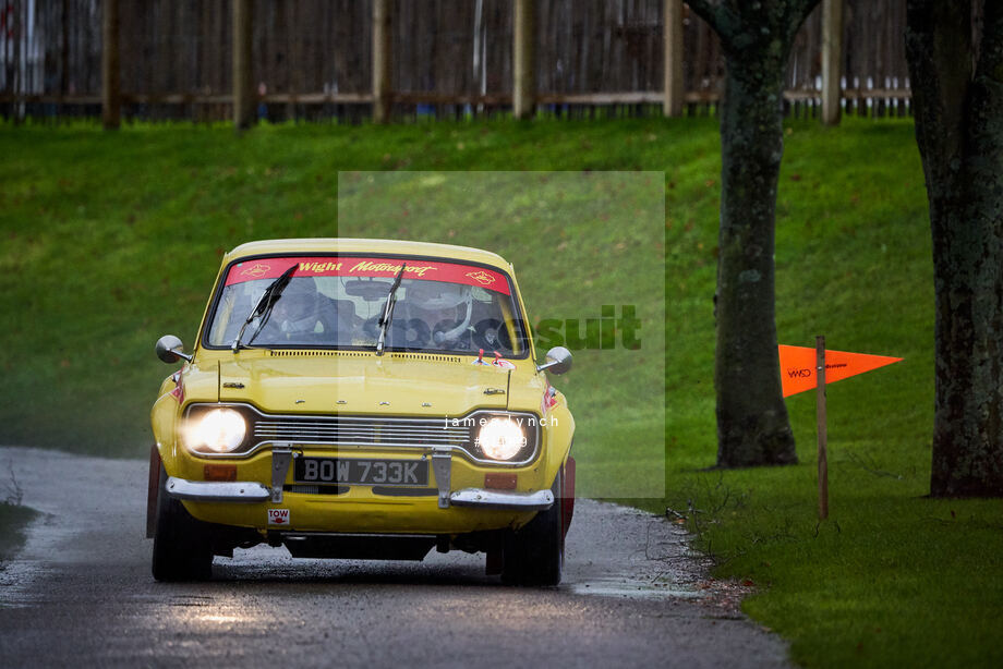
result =
M444 418L281 417L254 423L257 442L278 441L331 446L466 446L467 427L447 427Z

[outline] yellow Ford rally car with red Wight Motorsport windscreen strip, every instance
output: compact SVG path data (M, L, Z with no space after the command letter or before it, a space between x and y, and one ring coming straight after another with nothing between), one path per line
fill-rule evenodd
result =
M222 261L194 351L152 412L147 536L159 581L261 543L293 557L487 554L560 581L575 419L537 364L512 266L387 240L277 240Z

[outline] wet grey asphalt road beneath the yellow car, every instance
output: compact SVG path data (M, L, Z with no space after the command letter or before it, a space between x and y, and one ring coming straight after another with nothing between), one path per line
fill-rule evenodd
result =
M484 575L483 556L293 560L257 547L215 580L161 584L146 463L0 448L43 512L0 571L3 667L782 667L677 525L579 500L557 588Z

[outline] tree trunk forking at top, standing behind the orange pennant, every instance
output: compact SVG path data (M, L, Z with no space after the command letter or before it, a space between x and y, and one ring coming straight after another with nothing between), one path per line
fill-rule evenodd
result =
M774 317L776 183L787 57L819 0L690 0L721 38L717 465L797 462Z

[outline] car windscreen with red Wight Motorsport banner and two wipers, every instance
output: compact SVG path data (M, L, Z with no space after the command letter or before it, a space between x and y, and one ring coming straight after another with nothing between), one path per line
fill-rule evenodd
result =
M205 343L232 345L265 289L297 265L270 309L247 324L241 343L375 349L380 316L402 264L387 349L525 355L522 315L504 272L426 258L289 256L234 263L214 301Z

